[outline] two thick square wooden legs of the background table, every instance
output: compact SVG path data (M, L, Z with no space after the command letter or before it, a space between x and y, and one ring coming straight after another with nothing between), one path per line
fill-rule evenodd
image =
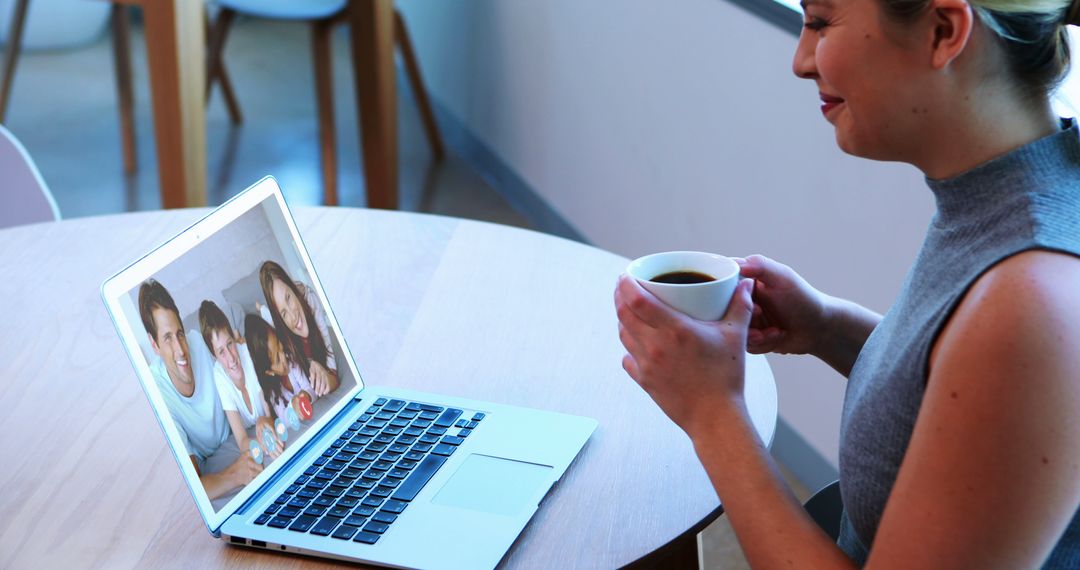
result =
M163 207L206 205L206 37L203 0L109 0L138 5L146 27ZM397 90L393 0L350 0L356 105L369 207L397 207Z

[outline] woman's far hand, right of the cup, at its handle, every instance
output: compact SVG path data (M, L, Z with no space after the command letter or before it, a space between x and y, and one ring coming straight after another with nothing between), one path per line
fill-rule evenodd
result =
M734 258L754 280L754 317L746 350L752 354L815 354L827 325L827 299L792 268L765 256Z

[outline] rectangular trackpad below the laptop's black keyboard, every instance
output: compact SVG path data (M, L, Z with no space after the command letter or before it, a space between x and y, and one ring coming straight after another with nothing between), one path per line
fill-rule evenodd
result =
M542 486L551 483L548 465L471 454L431 502L496 515L536 507ZM531 504L530 504L531 503Z

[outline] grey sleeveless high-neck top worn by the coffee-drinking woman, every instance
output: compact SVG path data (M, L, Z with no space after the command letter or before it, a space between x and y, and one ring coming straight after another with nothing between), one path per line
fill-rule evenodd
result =
M1062 124L1058 133L955 178L927 180L937 212L900 297L851 369L843 401L838 543L860 565L912 438L930 350L963 295L1017 253L1080 256L1080 133L1072 120ZM1045 567L1080 568L1080 513Z

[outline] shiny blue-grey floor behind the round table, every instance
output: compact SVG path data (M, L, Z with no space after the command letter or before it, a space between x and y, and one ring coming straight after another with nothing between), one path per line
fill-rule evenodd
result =
M335 36L335 97L340 202L364 205L356 106L343 33ZM65 218L160 207L158 173L141 31L133 39L138 172L125 176L120 154L112 58L103 38L78 51L26 54L6 126L35 158ZM207 110L207 194L224 202L267 174L294 204L321 202L314 89L308 29L302 25L240 21L226 64L244 111L230 125L215 93ZM422 62L421 62L422 66ZM459 158L433 164L406 83L399 81L402 208L528 227ZM788 477L788 480L792 480ZM806 489L796 487L805 499ZM724 517L703 533L707 568L745 568Z

